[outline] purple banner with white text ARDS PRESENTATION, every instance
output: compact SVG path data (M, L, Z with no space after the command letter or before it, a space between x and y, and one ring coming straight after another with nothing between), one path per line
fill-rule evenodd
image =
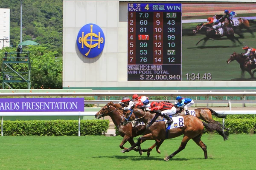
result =
M0 112L84 111L84 98L0 98Z

